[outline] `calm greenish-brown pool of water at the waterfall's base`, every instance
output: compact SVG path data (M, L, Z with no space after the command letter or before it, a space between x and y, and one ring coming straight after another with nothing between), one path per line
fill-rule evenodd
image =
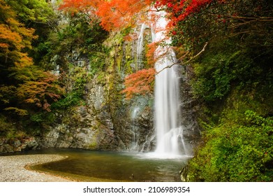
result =
M66 155L65 160L32 169L78 181L181 181L179 171L188 158L156 158L149 153L117 153L79 149L47 149L36 153Z

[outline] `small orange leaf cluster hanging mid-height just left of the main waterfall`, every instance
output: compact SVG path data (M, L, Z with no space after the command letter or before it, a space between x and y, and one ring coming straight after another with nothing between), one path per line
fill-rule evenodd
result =
M152 92L154 84L154 76L156 70L154 68L142 69L135 73L130 74L125 78L126 99L131 99L136 94L147 94Z

